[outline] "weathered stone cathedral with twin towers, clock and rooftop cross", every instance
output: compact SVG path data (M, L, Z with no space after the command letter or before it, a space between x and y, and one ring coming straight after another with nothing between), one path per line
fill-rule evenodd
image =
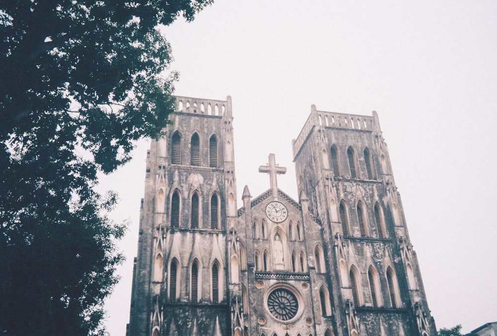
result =
M231 97L176 103L147 154L128 336L437 335L376 112L312 105L299 200L269 154L269 189L238 203Z

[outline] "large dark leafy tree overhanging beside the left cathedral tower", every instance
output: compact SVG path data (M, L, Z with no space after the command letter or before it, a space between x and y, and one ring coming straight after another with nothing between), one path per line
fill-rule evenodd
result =
M161 133L177 75L157 27L211 2L0 4L0 333L102 333L125 226L97 172Z

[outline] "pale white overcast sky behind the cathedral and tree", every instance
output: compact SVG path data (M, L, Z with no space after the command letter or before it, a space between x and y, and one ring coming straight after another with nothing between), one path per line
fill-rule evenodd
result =
M297 200L291 141L311 104L376 110L437 328L497 321L497 1L216 0L165 29L176 94L233 99L238 204L278 187ZM125 334L143 198L146 141L102 179L117 191L126 263L107 300Z

